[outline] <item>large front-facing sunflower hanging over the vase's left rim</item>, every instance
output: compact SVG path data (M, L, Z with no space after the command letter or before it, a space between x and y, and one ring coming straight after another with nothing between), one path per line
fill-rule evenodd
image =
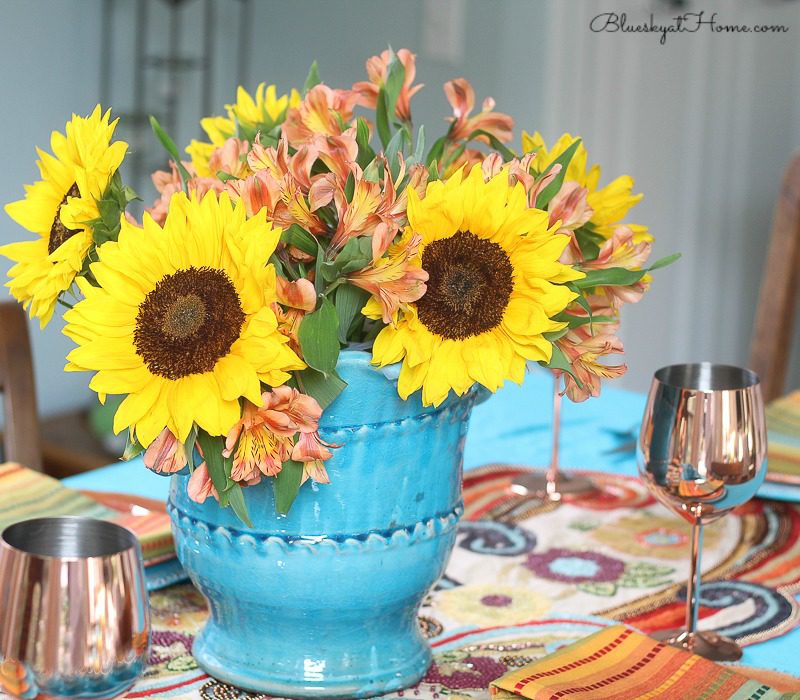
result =
M169 428L181 442L196 423L226 435L241 417L239 398L261 404L261 382L279 386L305 365L278 332L275 268L280 236L262 210L213 192L176 194L164 228L122 222L118 242L92 264L99 283L80 280L85 299L64 317L78 347L67 370L96 372L99 394L127 394L114 430L130 428L148 446Z

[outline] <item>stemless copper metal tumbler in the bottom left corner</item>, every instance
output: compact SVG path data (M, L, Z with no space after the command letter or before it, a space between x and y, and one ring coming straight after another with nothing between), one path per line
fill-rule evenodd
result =
M119 525L39 518L0 535L0 688L16 698L111 698L144 671L141 550Z

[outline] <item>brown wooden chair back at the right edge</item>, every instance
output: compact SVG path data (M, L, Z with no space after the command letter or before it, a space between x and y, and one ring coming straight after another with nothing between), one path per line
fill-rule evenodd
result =
M800 283L800 153L789 162L775 205L761 278L750 367L761 377L765 401L785 392Z

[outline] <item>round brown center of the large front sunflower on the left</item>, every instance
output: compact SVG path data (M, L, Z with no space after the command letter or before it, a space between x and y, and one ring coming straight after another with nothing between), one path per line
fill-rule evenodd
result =
M153 374L180 379L213 370L239 337L244 320L225 272L190 267L159 280L139 304L133 344Z

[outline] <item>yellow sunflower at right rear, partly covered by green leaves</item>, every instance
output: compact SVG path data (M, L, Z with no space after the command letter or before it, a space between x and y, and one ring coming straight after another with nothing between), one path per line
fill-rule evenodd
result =
M522 132L522 150L525 153L536 154L531 161L531 166L540 173L567 150L573 141L575 141L575 137L571 134L562 134L553 147L548 149L538 131L532 136ZM594 212L589 222L597 233L608 239L611 238L614 229L622 223L628 212L636 206L642 195L633 194L634 183L630 175L621 175L605 187L598 188L600 166L595 164L587 170L587 162L586 149L581 143L567 166L567 174L564 179L567 182L577 182L589 191L586 200ZM634 243L653 240L652 235L647 232L647 226L628 223L625 225L633 231Z

